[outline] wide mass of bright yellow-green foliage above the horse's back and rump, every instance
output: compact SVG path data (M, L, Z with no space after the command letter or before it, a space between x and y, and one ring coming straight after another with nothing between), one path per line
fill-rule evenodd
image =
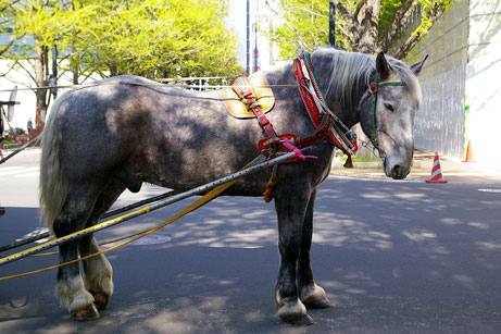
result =
M66 70L75 75L163 77L165 71L171 76L241 71L235 37L224 25L224 0L23 0L13 8L9 24L14 35L34 37L34 48L57 45L68 60ZM29 52L8 55L26 59Z

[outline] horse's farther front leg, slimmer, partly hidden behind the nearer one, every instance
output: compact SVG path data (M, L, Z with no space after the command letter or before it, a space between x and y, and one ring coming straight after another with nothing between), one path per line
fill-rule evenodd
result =
M313 235L313 209L315 206L316 189L312 191L304 215L301 253L298 261L298 288L301 301L306 308L325 309L330 302L325 296L325 290L315 284L311 267L310 253Z

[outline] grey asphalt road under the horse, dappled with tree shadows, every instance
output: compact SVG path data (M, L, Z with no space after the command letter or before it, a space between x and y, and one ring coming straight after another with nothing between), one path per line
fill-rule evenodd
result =
M0 166L7 207L0 245L40 227L36 170L13 172L36 168L34 157ZM145 186L117 205L162 191ZM103 231L98 239L153 226L191 201ZM312 310L309 327L275 316L276 240L273 203L218 198L109 253L115 293L97 321L73 321L58 306L55 271L0 282L0 332L501 332L501 184L329 177L317 197L312 259L334 306ZM0 275L55 262L25 259L0 268Z

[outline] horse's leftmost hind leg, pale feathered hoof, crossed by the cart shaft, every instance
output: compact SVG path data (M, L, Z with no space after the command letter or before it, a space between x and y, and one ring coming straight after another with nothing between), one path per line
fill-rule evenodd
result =
M53 223L55 236L62 237L84 228L96 198L97 191L90 185L68 186L62 210ZM78 258L78 239L74 239L59 246L60 263ZM61 305L74 318L89 320L99 318L99 312L93 306L95 299L85 288L78 262L59 268L54 293Z

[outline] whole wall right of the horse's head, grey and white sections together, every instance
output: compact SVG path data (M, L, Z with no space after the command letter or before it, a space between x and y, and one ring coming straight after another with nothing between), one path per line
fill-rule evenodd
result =
M501 0L462 0L431 28L417 57L429 54L421 75L424 104L416 146L501 169Z

